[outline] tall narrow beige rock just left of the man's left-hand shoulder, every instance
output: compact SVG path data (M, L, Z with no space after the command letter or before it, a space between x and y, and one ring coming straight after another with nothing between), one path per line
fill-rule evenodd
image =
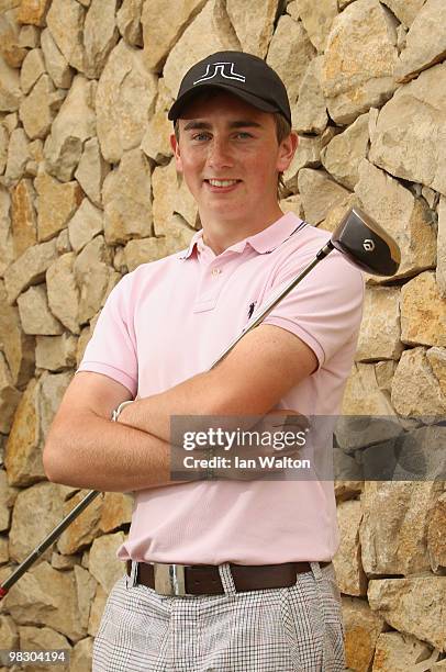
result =
M103 236L96 236L76 258L73 269L80 290L79 324L88 322L103 306L120 279L111 265L112 257Z

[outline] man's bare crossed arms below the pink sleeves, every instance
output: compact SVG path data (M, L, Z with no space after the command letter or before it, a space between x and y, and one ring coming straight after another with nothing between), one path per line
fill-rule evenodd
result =
M317 367L313 350L274 325L248 333L212 371L126 406L121 383L80 371L53 421L43 453L51 481L129 492L178 484L169 477L171 415L265 415Z

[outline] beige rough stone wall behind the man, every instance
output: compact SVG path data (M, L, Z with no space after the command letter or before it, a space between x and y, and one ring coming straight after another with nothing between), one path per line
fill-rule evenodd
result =
M331 231L356 203L401 246L367 281L344 413L446 412L445 25L444 0L0 0L0 580L85 494L41 455L108 293L200 226L166 116L209 53L257 54L288 87L283 209ZM336 494L349 668L446 670L444 483ZM0 648L90 669L131 511L108 493L64 533L2 603Z

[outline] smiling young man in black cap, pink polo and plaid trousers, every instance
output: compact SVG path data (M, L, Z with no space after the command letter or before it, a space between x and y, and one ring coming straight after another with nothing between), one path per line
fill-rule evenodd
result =
M109 596L93 671L341 671L333 483L171 481L170 417L338 413L363 276L334 251L209 371L330 236L278 205L298 138L261 59L196 64L169 119L202 229L113 289L44 453L52 481L135 492L118 551L127 575Z

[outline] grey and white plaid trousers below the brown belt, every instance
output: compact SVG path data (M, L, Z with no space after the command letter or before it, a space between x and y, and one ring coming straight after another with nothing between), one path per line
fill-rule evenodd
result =
M119 579L94 639L92 672L345 670L333 564L312 562L291 587L243 593L228 563L219 571L222 595L171 597Z

